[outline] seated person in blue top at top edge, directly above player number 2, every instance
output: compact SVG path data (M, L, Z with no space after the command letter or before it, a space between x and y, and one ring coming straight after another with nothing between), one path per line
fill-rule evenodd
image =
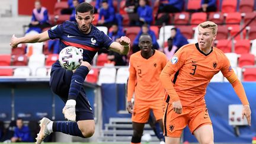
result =
M151 24L153 21L153 10L148 5L147 0L139 0L137 15L129 15L130 25L142 26L143 24Z

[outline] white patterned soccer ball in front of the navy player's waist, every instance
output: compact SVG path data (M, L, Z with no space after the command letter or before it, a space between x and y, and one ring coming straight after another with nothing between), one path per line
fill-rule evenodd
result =
M59 63L62 68L72 71L78 68L82 63L82 52L73 46L62 49L59 53Z

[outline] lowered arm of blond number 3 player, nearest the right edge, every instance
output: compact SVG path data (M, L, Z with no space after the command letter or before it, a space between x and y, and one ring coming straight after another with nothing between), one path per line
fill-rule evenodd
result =
M242 119L244 119L245 116L247 118L249 126L251 126L251 109L249 108L249 102L247 100L247 96L245 94L242 83L239 81L234 72L231 76L228 76L227 79L232 84L233 89L235 90L236 94L244 105L244 108L242 110Z

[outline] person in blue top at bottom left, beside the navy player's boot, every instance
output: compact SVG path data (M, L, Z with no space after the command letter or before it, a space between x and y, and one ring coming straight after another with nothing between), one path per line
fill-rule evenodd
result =
M33 142L30 130L23 125L23 120L18 118L16 124L17 127L14 129L14 136L11 138L11 142Z

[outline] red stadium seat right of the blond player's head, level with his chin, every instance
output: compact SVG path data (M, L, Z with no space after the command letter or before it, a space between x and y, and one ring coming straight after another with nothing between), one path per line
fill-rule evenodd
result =
M250 48L251 48L251 43L249 40L236 40L235 53L237 54L249 53Z

